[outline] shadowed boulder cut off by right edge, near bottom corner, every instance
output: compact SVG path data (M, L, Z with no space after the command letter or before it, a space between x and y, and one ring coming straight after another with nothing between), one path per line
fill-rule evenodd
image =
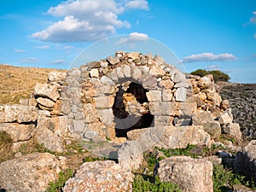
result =
M234 166L237 172L256 182L256 140L248 143L236 154Z

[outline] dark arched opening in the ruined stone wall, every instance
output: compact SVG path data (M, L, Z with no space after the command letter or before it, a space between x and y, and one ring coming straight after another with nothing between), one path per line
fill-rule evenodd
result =
M148 98L141 84L120 85L113 103L116 137L127 137L127 132L154 126L154 115L148 108Z

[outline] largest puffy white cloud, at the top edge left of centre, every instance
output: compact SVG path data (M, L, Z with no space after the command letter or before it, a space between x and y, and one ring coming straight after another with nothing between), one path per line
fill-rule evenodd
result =
M32 38L51 42L95 41L108 37L117 28L131 27L119 15L126 9L148 9L146 0L67 0L49 8L47 14L63 19L56 21Z

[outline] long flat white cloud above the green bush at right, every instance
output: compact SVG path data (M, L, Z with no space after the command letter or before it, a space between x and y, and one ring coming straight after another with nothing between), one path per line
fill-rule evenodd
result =
M198 62L198 61L235 61L236 56L230 53L214 55L212 53L201 53L190 55L183 58L183 62Z

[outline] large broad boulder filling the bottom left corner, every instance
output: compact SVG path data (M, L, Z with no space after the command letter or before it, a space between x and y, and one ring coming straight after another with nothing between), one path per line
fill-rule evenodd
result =
M66 168L66 158L47 153L26 154L15 160L7 160L0 164L0 189L42 192Z

